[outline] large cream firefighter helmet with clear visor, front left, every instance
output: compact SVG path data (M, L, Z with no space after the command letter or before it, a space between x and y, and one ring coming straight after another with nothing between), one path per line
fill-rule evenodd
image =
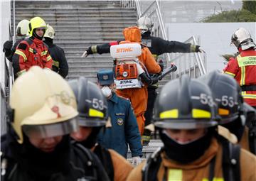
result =
M31 67L18 77L11 91L14 111L12 127L18 143L23 133L34 138L61 136L78 130L75 95L60 75L41 67Z

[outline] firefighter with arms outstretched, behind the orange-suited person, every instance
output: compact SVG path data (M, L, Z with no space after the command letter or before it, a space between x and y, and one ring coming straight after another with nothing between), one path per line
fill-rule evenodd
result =
M159 55L163 53L193 53L193 52L204 52L203 49L199 45L192 45L191 43L181 43L178 41L169 41L164 40L159 37L151 36L151 30L153 28L153 23L151 19L143 16L139 18L137 21L137 27L141 30L142 34L142 45L145 45L149 48L152 55L154 55L157 60ZM119 43L121 40L117 40L116 42L111 42L103 45L93 45L87 49L86 55L90 55L92 53L110 53L110 45L115 45ZM164 69L164 63L162 60L159 60L159 65L161 66L161 70ZM158 88L158 83L149 85L147 87L148 90L148 99L146 112L144 114L145 117L145 126L151 124L152 116L153 116L153 108L154 101L156 99L156 89ZM150 140L151 131L149 129L144 130L144 135L142 136L143 144L148 145Z

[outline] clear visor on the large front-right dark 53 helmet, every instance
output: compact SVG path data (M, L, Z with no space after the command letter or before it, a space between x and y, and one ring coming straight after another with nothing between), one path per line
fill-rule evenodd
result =
M174 129L195 129L195 128L208 128L217 125L217 121L208 119L197 120L161 120L156 121L154 125L159 128L174 128Z

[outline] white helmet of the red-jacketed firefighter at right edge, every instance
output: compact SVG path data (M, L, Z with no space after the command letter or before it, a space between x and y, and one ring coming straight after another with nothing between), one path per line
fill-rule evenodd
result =
M245 28L238 28L231 36L231 43L233 43L237 48L242 48L242 50L247 50L249 48L255 47L255 43L252 40L250 32Z

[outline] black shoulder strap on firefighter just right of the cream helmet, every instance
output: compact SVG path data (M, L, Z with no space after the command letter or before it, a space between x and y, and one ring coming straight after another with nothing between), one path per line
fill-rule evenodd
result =
M107 175L110 177L110 180L114 180L114 167L110 151L100 145L97 145L95 147L94 153L98 158L100 158L100 161L105 168Z

